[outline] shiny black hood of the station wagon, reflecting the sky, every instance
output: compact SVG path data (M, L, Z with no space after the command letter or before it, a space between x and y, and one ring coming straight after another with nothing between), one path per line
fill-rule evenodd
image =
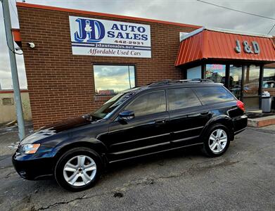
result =
M25 139L23 139L20 142L20 145L25 143L34 143L35 141L44 139L54 134L58 134L65 130L80 127L86 124L91 124L93 122L96 122L96 120L93 120L93 117L91 117L91 115L82 115L79 117L74 117L53 124L49 124L45 127L41 127L41 129L39 129L37 132L34 132L29 136L26 136Z

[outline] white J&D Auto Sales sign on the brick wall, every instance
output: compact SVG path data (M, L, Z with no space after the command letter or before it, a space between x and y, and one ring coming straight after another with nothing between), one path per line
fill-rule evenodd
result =
M70 16L72 54L151 58L150 25Z

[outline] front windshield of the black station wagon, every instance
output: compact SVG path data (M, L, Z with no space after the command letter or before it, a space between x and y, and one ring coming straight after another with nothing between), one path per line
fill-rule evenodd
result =
M134 95L135 92L122 92L110 98L106 103L104 103L101 108L98 108L94 113L91 115L96 117L97 119L108 118L116 108L118 108L124 101L127 101L129 97Z

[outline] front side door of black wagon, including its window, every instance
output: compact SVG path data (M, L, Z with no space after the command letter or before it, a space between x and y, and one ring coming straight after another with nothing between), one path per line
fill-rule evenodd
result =
M123 160L160 151L170 144L165 127L168 120L165 91L136 96L123 110L132 110L134 118L110 123L107 145L109 160Z

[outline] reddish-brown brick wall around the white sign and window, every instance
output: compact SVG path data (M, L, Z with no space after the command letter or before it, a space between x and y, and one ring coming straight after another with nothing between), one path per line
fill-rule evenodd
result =
M152 58L72 55L69 15L151 25ZM89 113L106 100L95 97L93 63L134 64L137 85L181 79L181 70L174 67L179 32L196 30L195 27L23 6L18 6L18 16L34 129ZM34 49L27 47L30 41L34 42Z

